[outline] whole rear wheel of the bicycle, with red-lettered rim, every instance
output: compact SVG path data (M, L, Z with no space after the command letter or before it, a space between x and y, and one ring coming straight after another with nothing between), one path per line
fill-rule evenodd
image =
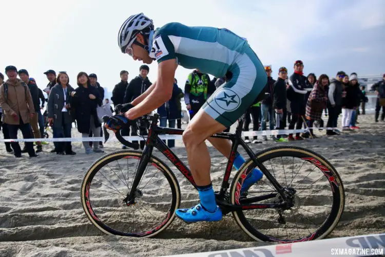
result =
M321 239L331 233L345 204L342 181L332 164L322 156L297 146L278 146L255 156L282 187L296 191L294 206L286 210L233 212L242 230L254 240L281 243ZM281 196L265 176L242 195L242 177L253 168L258 167L248 159L235 175L230 188L232 204L240 205L252 197L274 193L277 196L258 201L258 204L282 203Z

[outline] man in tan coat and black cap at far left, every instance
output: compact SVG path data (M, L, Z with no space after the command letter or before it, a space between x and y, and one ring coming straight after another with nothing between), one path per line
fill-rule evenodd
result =
M10 139L17 139L17 131L20 129L23 138L32 138L29 125L30 119L35 114L33 101L28 86L17 79L15 66L7 66L5 73L8 80L0 86L0 106L4 112L4 122L7 123ZM9 90L10 89L10 90ZM29 157L36 157L33 142L25 142ZM22 150L18 142L11 143L16 158L22 157Z

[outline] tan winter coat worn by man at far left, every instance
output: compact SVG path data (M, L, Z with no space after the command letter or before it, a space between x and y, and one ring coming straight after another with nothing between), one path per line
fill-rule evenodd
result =
M34 114L35 108L28 86L21 79L16 79L15 82L7 80L5 83L8 85L7 99L4 84L0 86L0 106L5 116L4 123L18 125L19 117L22 117L24 124L29 123L29 114ZM16 119L12 114L17 114Z

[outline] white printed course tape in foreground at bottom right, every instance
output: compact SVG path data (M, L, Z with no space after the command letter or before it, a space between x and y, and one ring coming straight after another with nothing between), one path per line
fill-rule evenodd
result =
M167 255L172 257L245 257L245 256L371 256L384 254L385 234L338 237L324 240L279 244L233 250ZM167 257L164 256L164 257Z

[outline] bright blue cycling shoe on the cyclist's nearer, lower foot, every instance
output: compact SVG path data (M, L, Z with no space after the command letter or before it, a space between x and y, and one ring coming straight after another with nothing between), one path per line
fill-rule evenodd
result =
M175 214L184 222L218 222L222 219L222 211L217 206L214 212L209 212L199 203L190 209L177 209Z

